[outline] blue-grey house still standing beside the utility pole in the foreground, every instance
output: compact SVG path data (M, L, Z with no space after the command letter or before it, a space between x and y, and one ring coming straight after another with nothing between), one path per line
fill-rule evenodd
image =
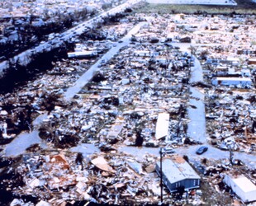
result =
M156 164L156 171L160 176L160 162ZM200 176L183 159L183 157L174 157L164 159L162 162L163 182L170 192L178 190L190 190L200 187Z

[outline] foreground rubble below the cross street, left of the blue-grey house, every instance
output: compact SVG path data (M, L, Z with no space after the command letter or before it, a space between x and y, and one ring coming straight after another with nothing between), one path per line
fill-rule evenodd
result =
M12 195L16 197L12 201L28 203L28 199L33 197L31 205L40 201L54 205L79 202L159 203L159 176L154 172L156 157L149 154L139 161L115 150L86 158L79 153L55 150L26 154L16 162L19 163L16 169L12 164L9 168L19 174L19 181L4 179L1 184L1 190L4 187L7 191L12 190ZM4 172L1 172L2 178ZM177 200L176 194L172 195L164 191L164 198L170 203L185 201ZM198 203L200 195L187 195L186 199L191 203L197 199Z

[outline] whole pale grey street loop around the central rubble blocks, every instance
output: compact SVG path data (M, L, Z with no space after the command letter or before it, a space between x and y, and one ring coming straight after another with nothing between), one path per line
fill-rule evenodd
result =
M121 43L116 44L116 47L112 47L106 54L102 56L101 59L99 59L95 64L92 65L92 67L81 76L77 82L74 83L73 87L69 87L69 89L64 93L64 99L66 101L70 101L75 94L77 94L84 85L86 85L93 77L97 71L99 71L100 63L102 59L104 59L106 62L110 60L115 54L118 53L118 51L129 44L129 40L131 35L134 35L138 30L140 30L140 27L145 25L146 22L140 22L137 26L135 26L130 32L123 37L121 40ZM180 47L180 50L183 52L189 53L189 48L191 44L176 44L173 43L173 46ZM190 82L203 82L203 73L201 69L201 64L198 59L194 59L194 66L191 70L191 78ZM197 160L198 158L212 158L215 160L219 160L222 158L229 158L230 152L229 151L221 151L220 149L217 149L216 147L212 147L210 144L206 142L206 119L205 119L205 104L204 104L204 93L202 89L197 87L190 87L190 99L189 104L195 105L196 107L188 107L187 112L190 119L190 122L188 123L188 129L187 134L194 140L206 144L207 147L209 147L209 150L211 152L206 152L202 154L200 157L197 156L196 150L198 146L189 146L189 147L182 147L182 148L176 148L174 149L175 152L181 155L187 155L187 157ZM7 144L7 147L4 150L4 156L11 157L11 156L17 156L21 153L26 151L26 148L31 146L34 143L40 143L40 147L47 148L47 144L43 140L41 140L38 137L38 128L40 124L43 122L44 119L47 118L46 114L39 115L33 122L33 126L35 128L34 131L31 133L21 133L20 135L15 138L12 143ZM96 152L97 147L89 144L81 144L77 147L71 148L71 151L73 152L82 152L85 155L88 155L90 152ZM136 154L138 158L142 158L145 156L145 154L159 154L159 148L150 148L150 147L120 147L120 152L126 152L128 154ZM248 164L248 166L252 168L256 168L256 161L254 155L244 154L243 152L234 152L234 157L237 159L240 159L241 161Z

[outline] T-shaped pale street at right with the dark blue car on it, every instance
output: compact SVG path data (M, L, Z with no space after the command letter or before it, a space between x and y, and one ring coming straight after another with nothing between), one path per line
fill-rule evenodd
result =
M180 50L183 52L189 53L189 48L191 44L176 44L173 43L173 46L180 47ZM197 44L195 44L197 45ZM197 58L194 59L194 66L191 68L191 78L190 82L203 82L203 73L199 60ZM210 158L214 160L220 160L223 158L229 159L230 152L229 151L221 151L216 147L212 147L211 144L207 143L206 138L206 118L205 118L205 103L204 98L205 95L202 88L190 87L189 91L190 99L189 103L191 105L195 105L196 108L188 107L187 112L190 119L188 123L187 135L196 141L207 145L211 152L205 152L200 157L196 154L198 145L188 146L188 147L179 147L174 149L180 155L187 155L190 159L198 160L199 158ZM138 159L142 159L146 154L159 155L159 148L150 148L150 147L120 147L120 152L126 152L128 154L136 154ZM243 152L234 152L234 158L240 159L244 163L246 163L251 168L256 169L256 160L254 155L243 153Z

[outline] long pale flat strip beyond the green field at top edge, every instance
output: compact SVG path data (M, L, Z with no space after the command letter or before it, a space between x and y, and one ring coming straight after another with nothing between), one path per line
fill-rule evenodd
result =
M256 1L256 0L255 0ZM167 4L203 4L203 5L221 5L236 6L234 0L146 0L149 3L167 3Z

